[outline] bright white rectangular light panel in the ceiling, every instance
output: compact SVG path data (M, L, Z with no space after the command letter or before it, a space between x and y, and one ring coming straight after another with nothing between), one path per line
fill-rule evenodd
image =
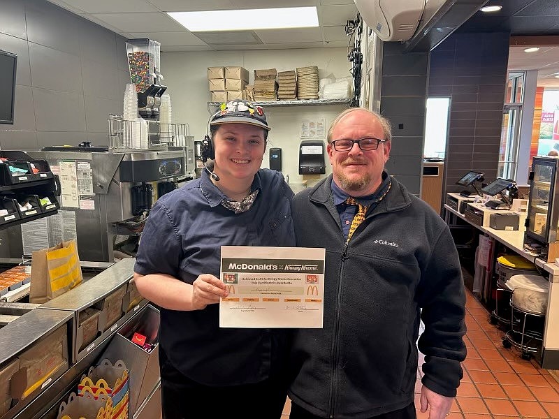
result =
M316 7L168 13L191 32L318 27Z

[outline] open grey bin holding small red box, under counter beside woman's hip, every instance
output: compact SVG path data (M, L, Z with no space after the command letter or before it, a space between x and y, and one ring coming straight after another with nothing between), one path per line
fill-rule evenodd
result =
M131 338L134 332L147 337L147 341L156 342L151 352L133 344ZM159 310L147 305L136 317L122 326L112 338L101 358L122 360L130 369L130 417L149 397L160 381L159 376Z

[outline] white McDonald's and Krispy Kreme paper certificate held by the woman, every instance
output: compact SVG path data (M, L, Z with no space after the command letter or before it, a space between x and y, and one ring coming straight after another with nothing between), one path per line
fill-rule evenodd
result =
M325 249L222 246L221 328L322 328Z

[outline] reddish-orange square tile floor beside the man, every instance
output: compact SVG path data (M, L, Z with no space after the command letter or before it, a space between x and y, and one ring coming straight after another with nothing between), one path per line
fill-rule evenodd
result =
M550 372L526 361L516 348L502 346L504 332L489 323L488 311L467 291L467 359L448 419L559 419L559 381ZM416 407L421 390L421 363L416 381ZM554 374L556 375L556 374ZM556 375L557 376L557 375ZM289 418L289 399L282 419ZM427 413L417 411L418 419Z

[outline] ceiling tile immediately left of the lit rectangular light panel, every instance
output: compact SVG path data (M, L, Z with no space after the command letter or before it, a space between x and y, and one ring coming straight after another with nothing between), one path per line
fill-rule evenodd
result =
M164 13L91 13L93 17L117 27L122 32L183 31L184 27Z

